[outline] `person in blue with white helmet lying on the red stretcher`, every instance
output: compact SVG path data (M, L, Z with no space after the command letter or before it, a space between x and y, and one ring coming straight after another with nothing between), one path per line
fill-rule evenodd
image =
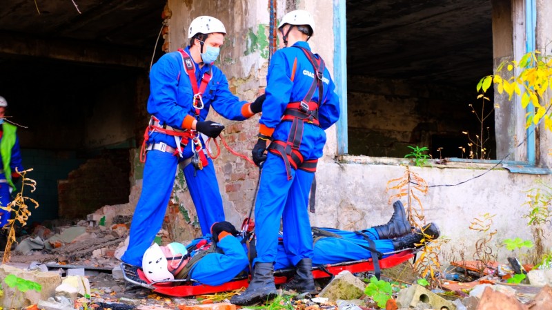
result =
M411 224L406 220L402 203L395 202L393 208L393 216L387 224L373 226L363 231L313 227L315 242L313 266L371 258L370 248L374 245L376 251L389 253L414 248L425 240L435 240L439 237L440 231L435 223L424 226L423 233L420 229L412 231ZM178 242L172 242L166 246L153 244L144 253L142 260L144 275L151 282L193 279L213 286L229 282L249 267L247 247L242 242L239 231L229 222L213 224L211 234L213 242L210 242L211 238L206 236L194 240L188 246ZM373 246L370 246L366 239L373 240ZM275 270L290 267L294 265L288 260L283 244L279 244ZM306 276L308 272L297 270L295 278Z

